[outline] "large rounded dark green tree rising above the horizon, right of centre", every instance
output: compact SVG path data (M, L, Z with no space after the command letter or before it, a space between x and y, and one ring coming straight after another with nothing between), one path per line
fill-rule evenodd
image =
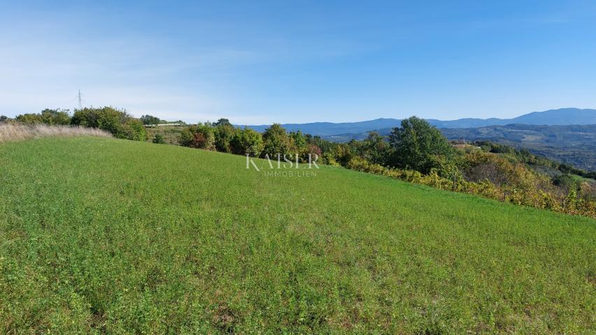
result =
M393 149L390 164L428 173L441 168L455 156L453 147L441 132L418 117L402 120L402 126L393 128L389 135Z

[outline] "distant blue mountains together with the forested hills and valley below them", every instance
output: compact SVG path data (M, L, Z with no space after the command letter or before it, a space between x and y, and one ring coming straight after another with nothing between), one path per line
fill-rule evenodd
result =
M596 170L596 110L561 108L523 114L513 119L427 119L450 140L490 140L553 158L586 170ZM319 135L333 142L363 140L370 131L388 135L399 119L360 122L282 124L288 131ZM263 132L269 125L248 126Z

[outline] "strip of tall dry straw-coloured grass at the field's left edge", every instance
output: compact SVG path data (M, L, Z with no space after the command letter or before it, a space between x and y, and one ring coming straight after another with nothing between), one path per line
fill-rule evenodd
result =
M0 124L0 143L21 141L38 137L75 137L75 136L100 136L111 137L107 131L96 128L83 128L78 126L48 126L45 124Z

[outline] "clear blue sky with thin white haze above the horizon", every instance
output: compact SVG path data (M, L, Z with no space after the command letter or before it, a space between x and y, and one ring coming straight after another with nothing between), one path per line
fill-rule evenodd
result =
M596 1L1 1L0 114L236 124L596 107Z

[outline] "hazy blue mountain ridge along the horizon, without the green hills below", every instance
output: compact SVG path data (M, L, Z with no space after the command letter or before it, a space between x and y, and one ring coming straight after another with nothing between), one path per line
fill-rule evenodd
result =
M585 125L596 124L596 110L581 110L579 108L561 108L559 110L546 110L523 114L513 119L457 119L441 121L427 119L437 128L476 128L485 126L503 126L506 124L532 124L545 126ZM393 128L399 126L401 119L374 119L360 122L313 122L309 124L282 124L288 131L301 131L311 135L332 137L332 135L345 135L367 133L369 131ZM263 132L269 125L248 126L255 131Z

